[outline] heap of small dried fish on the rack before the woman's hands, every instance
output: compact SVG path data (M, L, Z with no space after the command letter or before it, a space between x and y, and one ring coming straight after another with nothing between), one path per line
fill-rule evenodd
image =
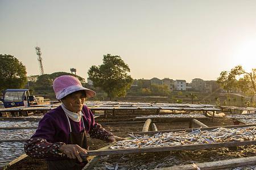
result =
M172 131L152 136L129 134L131 139L118 141L110 149L160 147L200 143L219 143L256 140L256 126L244 128L217 128L213 130L195 129L191 132Z

